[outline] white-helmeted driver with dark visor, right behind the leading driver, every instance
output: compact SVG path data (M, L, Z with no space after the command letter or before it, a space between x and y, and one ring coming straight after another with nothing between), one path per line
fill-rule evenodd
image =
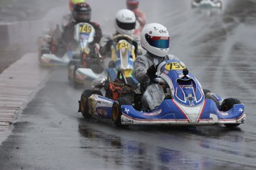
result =
M136 26L136 16L131 10L123 9L119 10L116 13L116 19L115 19L115 27L116 27L116 33L115 35L129 35L131 36L134 41L133 44L135 48L137 48L137 54L142 54L142 48L140 46L140 38L137 35L134 34ZM103 35L99 42L100 46L100 54L106 55L107 57L111 57L111 45L113 44L113 40L110 35Z

